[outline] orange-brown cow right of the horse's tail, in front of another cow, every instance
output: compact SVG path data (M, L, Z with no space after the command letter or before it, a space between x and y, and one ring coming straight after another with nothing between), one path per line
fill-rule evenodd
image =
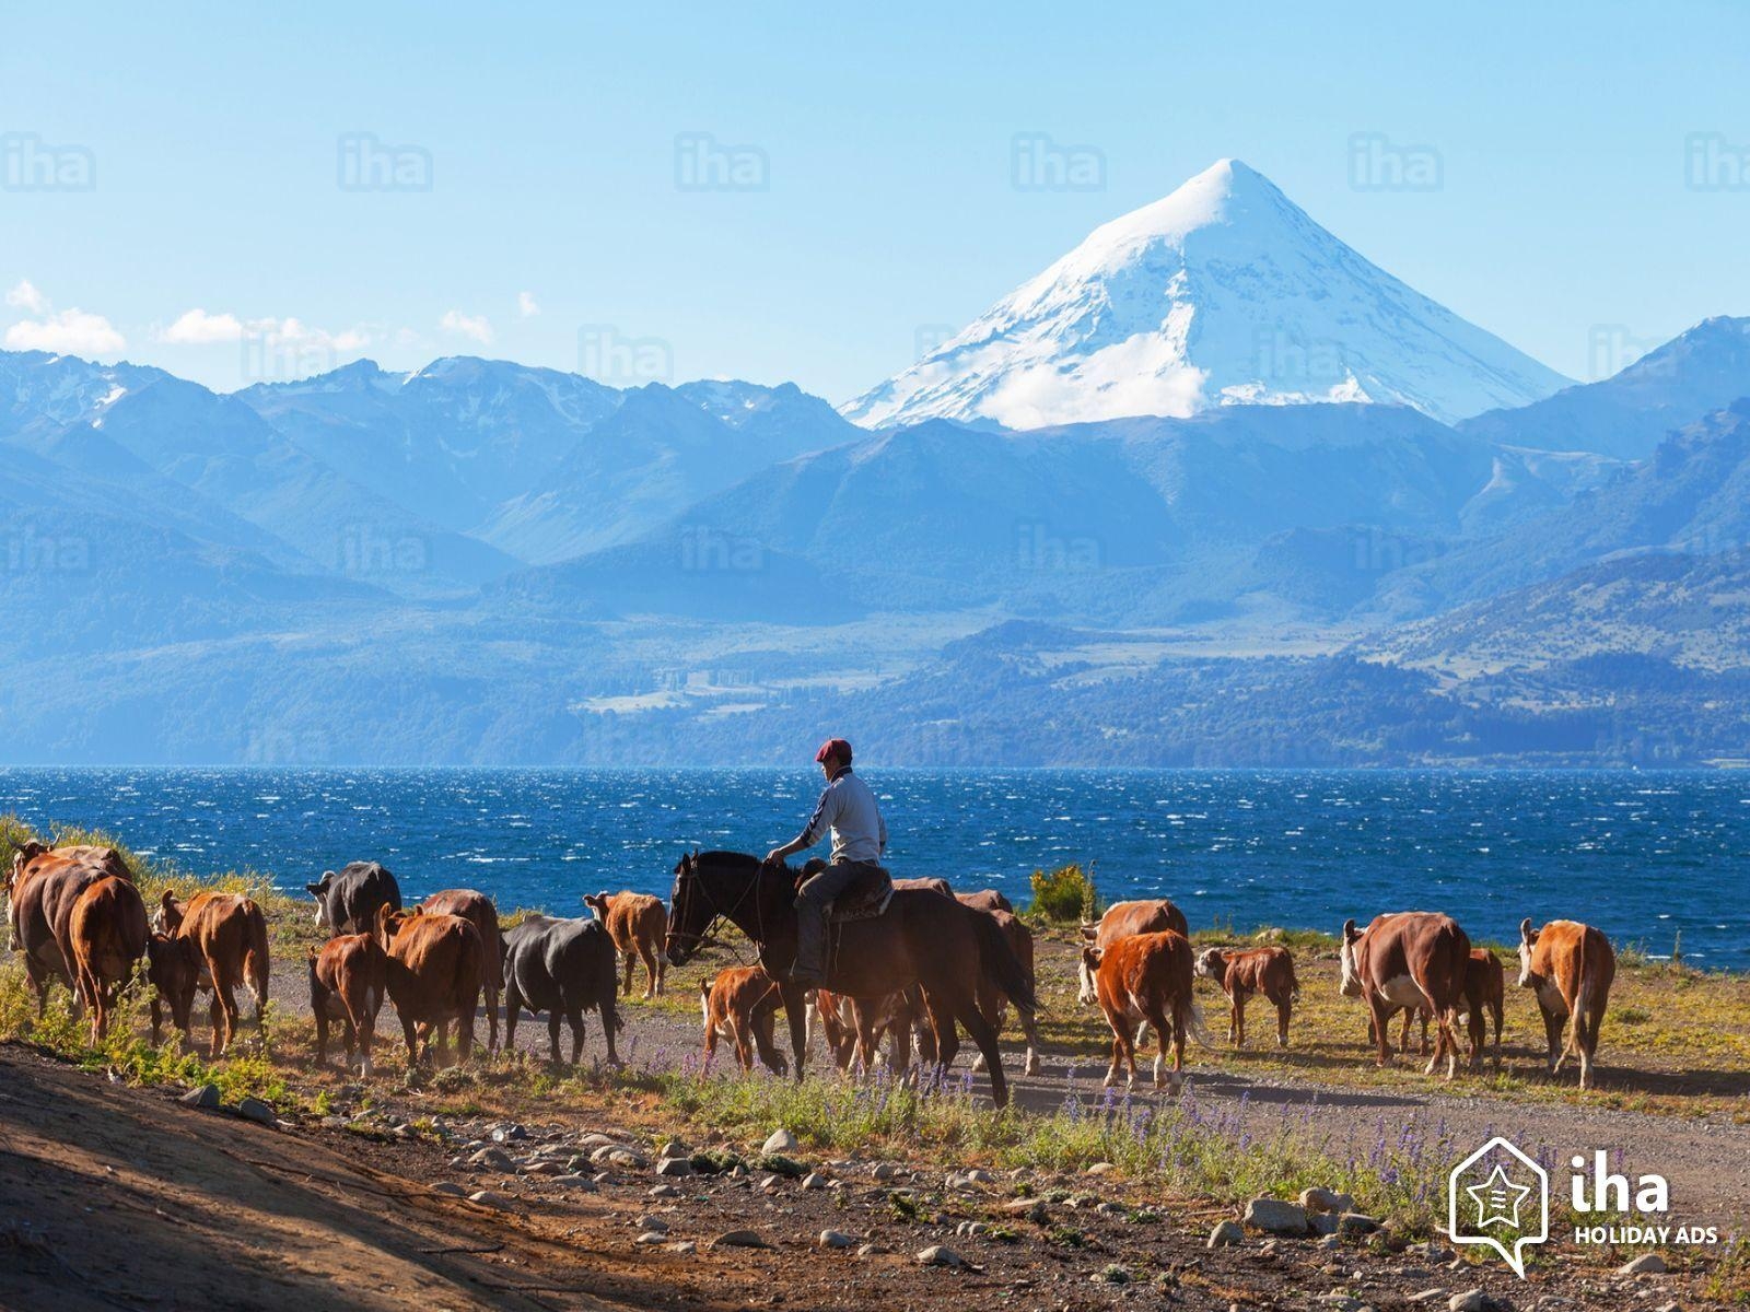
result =
M1118 1065L1129 1067L1136 1083L1136 1032L1143 1022L1155 1027L1160 1051L1155 1055L1155 1088L1180 1090L1185 1071L1185 1034L1208 1044L1202 1013L1192 995L1192 945L1171 929L1157 934L1125 934L1110 946L1082 948L1082 964L1094 976L1106 1023L1111 1027L1111 1069L1106 1088L1118 1083ZM1172 1043L1172 1079L1162 1081L1160 1067Z

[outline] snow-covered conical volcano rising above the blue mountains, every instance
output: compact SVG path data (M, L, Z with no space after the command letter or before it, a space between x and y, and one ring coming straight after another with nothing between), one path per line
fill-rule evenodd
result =
M1566 383L1365 261L1256 170L1222 159L1096 227L844 415L866 427L1036 429L1376 401L1452 422Z

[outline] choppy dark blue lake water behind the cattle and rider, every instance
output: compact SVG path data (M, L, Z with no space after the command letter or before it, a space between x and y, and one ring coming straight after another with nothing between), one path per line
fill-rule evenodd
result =
M1587 920L1750 969L1750 773L868 770L901 875L999 887L1094 862L1102 896L1169 896L1194 927L1318 927L1442 910L1474 938ZM299 889L376 859L408 896L500 908L667 894L690 847L763 852L819 775L763 770L0 770L0 812L108 829L198 873Z

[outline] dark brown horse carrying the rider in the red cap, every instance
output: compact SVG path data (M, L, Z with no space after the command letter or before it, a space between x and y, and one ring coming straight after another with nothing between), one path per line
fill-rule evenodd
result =
M796 959L796 871L761 864L744 852L690 852L674 868L665 952L684 964L728 920L760 946L760 964L775 980ZM938 1060L959 1050L959 1022L984 1053L990 1097L1008 1104L1008 1081L996 1048L996 1030L978 1011L978 985L990 980L1017 1008L1032 1011L1032 985L996 920L961 906L933 889L894 889L887 910L872 920L835 925L826 957L826 987L875 1002L896 990L922 985L936 1030ZM808 1048L805 990L780 983L789 1043L802 1079ZM894 1036L910 1046L910 1034ZM903 1055L908 1060L908 1053ZM896 1060L903 1069L903 1062Z

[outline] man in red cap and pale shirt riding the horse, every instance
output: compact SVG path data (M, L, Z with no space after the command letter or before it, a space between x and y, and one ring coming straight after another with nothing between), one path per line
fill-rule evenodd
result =
M766 861L779 862L819 843L828 829L833 833L831 861L796 894L796 964L788 978L803 988L826 983L826 913L833 901L861 880L887 878L880 866L887 850L887 822L870 785L850 773L850 743L830 738L814 759L826 775L826 791L814 815L796 838L766 852Z

